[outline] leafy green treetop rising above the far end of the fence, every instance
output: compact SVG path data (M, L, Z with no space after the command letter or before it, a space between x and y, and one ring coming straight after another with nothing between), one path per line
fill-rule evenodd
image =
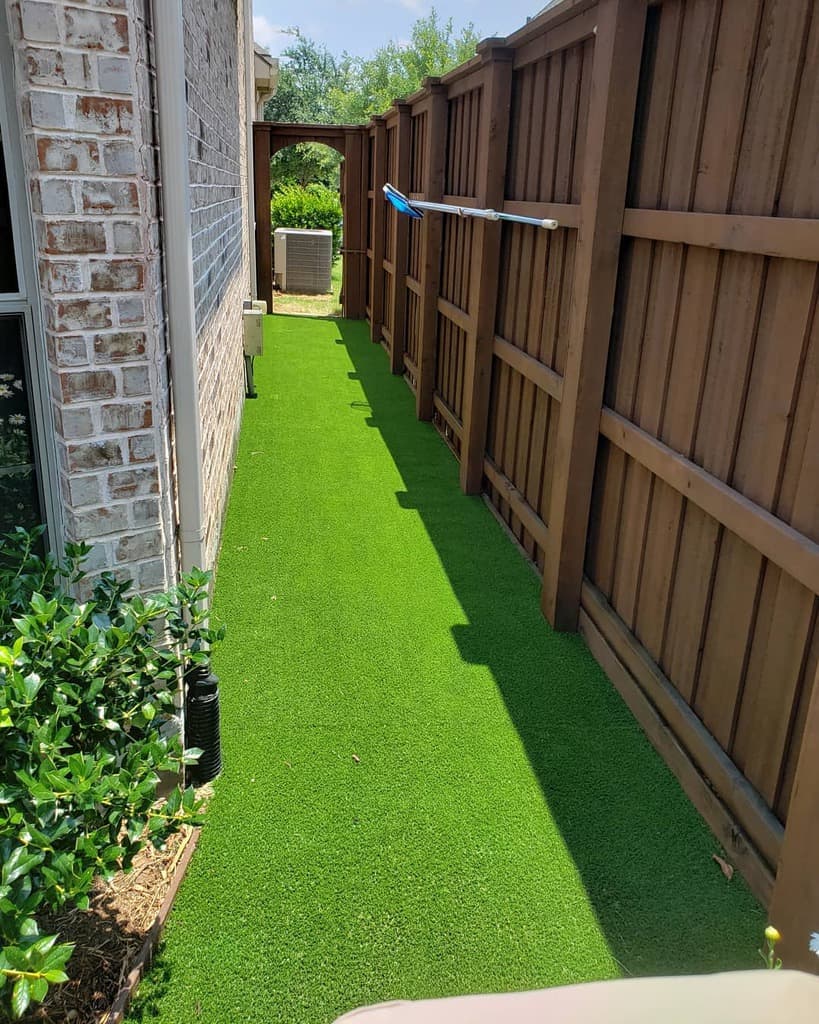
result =
M469 60L479 38L471 22L457 32L452 18L441 20L433 7L415 23L408 43L390 40L367 59L345 54L330 106L342 122L360 124L415 92L427 76L444 75Z

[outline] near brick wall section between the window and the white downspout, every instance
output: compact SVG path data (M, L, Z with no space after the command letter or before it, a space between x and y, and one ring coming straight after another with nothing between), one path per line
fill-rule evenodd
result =
M147 0L6 0L64 528L92 566L174 575Z

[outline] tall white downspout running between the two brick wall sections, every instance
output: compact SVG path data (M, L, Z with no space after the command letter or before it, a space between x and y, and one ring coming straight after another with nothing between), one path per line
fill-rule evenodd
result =
M207 566L182 0L153 7L179 551L187 572Z

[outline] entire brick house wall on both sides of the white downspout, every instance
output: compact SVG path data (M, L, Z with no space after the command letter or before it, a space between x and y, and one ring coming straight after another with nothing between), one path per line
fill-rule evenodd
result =
M8 7L45 323L64 534L140 588L176 577L168 347L149 0ZM249 294L244 18L185 4L207 552L242 412ZM241 7L241 4L240 4ZM203 32L207 29L207 33Z

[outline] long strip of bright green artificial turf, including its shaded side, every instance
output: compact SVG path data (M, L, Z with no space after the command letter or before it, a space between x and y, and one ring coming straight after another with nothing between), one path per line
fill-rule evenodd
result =
M365 326L266 331L216 586L225 770L132 1020L759 966L759 905Z

